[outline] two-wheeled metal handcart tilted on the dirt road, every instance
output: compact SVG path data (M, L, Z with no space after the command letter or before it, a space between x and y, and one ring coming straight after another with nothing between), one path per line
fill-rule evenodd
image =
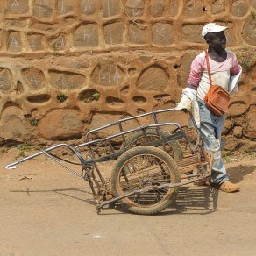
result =
M124 210L135 214L159 213L174 203L179 187L207 181L210 177L210 157L203 149L200 132L191 113L188 112L188 115L196 131L193 141L181 124L160 121L162 115L165 115L165 120L171 120L174 111L155 110L117 120L90 130L85 135L85 142L78 146L66 143L51 146L5 168L11 169L45 154L72 174L89 182L98 211L108 204L120 203ZM129 122L142 119L151 121L126 129ZM115 130L117 132L114 134L105 132ZM108 135L103 137L103 134ZM53 154L54 150L63 147L77 157L81 172L68 167L61 157ZM107 153L98 153L100 148ZM107 179L99 167L106 161L114 161L110 178Z

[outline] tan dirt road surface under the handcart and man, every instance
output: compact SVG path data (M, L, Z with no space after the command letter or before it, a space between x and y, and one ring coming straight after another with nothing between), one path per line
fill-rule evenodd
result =
M16 155L0 155L0 256L256 254L255 154L226 163L240 192L184 187L156 216L97 214L82 179L45 156L2 168Z

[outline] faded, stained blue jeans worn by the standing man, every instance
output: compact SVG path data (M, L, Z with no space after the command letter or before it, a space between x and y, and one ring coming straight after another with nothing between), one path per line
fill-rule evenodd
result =
M216 117L201 99L198 99L198 105L203 146L213 157L210 181L221 184L229 180L221 155L221 132L224 127L225 116Z

